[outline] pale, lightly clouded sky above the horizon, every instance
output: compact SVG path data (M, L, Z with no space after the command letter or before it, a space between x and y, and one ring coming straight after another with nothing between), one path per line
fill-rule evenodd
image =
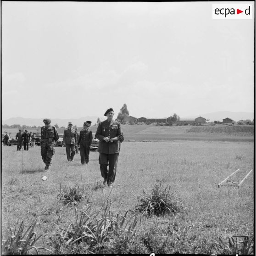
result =
M213 3L2 1L2 120L253 112L254 13Z

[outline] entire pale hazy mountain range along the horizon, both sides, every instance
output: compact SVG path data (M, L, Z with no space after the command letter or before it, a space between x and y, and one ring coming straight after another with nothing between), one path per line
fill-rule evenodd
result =
M210 122L213 121L223 121L224 118L230 118L234 121L239 120L246 120L250 119L251 121L254 119L254 113L253 112L231 112L231 111L218 111L218 112L212 112L212 113L206 113L201 114L197 116L186 116L180 118L196 118L196 117L204 117L207 120L209 119ZM139 118L139 117L137 117ZM42 126L44 118L23 118L23 117L12 117L6 120L2 120L2 124L12 125L12 124L20 124L20 125L28 125L28 126ZM83 125L83 122L91 121L92 125L94 125L97 122L98 117L96 116L86 116L86 117L80 117L80 118L70 118L70 119L61 119L61 118L52 118L51 123L52 125L58 124L59 127L64 126L67 127L68 122L72 122L74 125L77 125L78 127ZM105 120L106 117L100 117L100 120Z

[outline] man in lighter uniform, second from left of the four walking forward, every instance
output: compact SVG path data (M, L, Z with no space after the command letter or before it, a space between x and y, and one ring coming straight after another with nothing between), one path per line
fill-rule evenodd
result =
M68 122L68 128L64 130L63 144L66 146L67 161L74 161L77 145L77 132L72 128L72 122Z

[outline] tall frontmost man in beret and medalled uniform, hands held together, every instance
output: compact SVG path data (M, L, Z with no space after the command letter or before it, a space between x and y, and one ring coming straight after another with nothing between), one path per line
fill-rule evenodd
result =
M100 122L95 137L100 140L97 151L100 153L100 173L104 178L103 184L107 183L110 186L116 178L122 131L120 122L113 120L114 110L112 108L109 108L104 116L107 120ZM109 166L108 169L107 166Z

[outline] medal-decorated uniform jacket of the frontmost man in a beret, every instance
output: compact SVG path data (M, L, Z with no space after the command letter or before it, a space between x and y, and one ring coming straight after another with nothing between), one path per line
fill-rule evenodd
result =
M122 131L120 122L112 120L108 122L107 120L100 122L95 137L100 140L98 146L98 152L104 154L115 154L119 153L120 150L120 139L122 139ZM106 142L103 138L108 137L113 139L117 137L117 141L113 143Z

